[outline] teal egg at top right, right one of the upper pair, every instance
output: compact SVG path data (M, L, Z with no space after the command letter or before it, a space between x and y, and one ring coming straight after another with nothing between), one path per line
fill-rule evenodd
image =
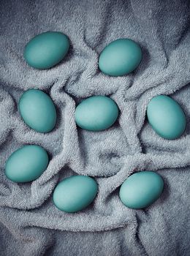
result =
M142 50L131 39L110 42L99 56L99 69L106 75L127 75L134 71L142 59Z

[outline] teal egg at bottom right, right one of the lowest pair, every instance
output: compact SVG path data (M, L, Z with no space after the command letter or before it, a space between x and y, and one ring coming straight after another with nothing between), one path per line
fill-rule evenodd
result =
M142 171L126 178L121 185L119 197L129 208L145 208L159 198L163 188L164 181L158 173Z

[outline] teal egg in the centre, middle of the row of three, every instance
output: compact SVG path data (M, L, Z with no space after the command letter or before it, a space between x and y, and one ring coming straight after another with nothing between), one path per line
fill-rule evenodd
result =
M105 96L84 99L75 110L77 125L89 131L102 131L111 127L118 118L118 105Z

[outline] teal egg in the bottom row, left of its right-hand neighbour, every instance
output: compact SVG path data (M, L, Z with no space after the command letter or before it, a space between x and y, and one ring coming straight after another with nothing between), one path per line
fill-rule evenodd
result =
M97 189L94 178L71 176L57 185L53 192L53 203L61 211L81 211L94 201Z

